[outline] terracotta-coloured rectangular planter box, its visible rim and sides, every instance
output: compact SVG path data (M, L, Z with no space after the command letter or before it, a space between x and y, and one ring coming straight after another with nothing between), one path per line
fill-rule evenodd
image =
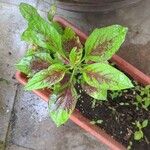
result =
M74 29L76 34L80 37L80 40L82 42L85 42L87 39L87 35L81 32L78 28L73 26L71 23L66 21L65 19L61 17L55 17L55 20L59 22L63 27L69 26ZM146 76L144 73L139 71L137 68L126 62L124 59L120 58L117 55L114 55L111 59L112 62L115 62L118 68L123 70L125 73L129 74L131 77L133 77L134 80L138 81L142 85L148 85L150 84L150 77ZM27 76L24 75L21 72L16 72L16 79L23 85L27 83ZM44 101L48 102L49 95L51 94L50 90L34 90L34 93L36 93L38 96L40 96ZM124 146L122 146L120 143L115 141L111 136L106 134L102 129L97 127L96 125L92 125L90 123L90 120L82 116L82 114L75 110L73 114L71 115L70 119L79 125L81 128L95 136L99 141L106 144L110 149L113 150L124 150L126 149Z

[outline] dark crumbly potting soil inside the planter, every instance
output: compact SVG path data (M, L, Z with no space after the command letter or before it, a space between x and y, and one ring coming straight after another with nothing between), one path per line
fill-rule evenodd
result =
M83 116L91 121L103 120L97 126L104 129L106 133L112 136L115 140L128 147L132 141L131 149L134 150L149 150L150 149L150 125L143 129L144 138L140 141L134 140L134 132L137 131L133 124L135 121L150 120L150 111L143 108L139 110L133 104L138 91L133 89L123 90L122 95L112 99L111 91L108 91L108 101L94 100L81 90L80 85L77 88L80 98L76 108ZM92 106L95 102L95 105ZM127 105L123 105L127 104Z

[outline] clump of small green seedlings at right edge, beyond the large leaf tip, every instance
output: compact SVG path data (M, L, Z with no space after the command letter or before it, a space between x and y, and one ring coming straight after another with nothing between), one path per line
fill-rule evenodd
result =
M136 90L139 94L136 95L136 101L134 104L136 105L136 109L138 110L140 107L145 110L149 110L150 108L150 85L146 87L136 86Z

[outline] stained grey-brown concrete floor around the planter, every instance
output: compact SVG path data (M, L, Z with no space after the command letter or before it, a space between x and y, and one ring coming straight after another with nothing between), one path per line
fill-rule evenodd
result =
M27 45L20 40L26 22L18 10L20 2L36 6L45 16L52 0L0 0L0 150L106 150L107 147L69 121L56 128L49 119L47 104L25 92L14 79L14 64ZM150 1L111 13L85 14L58 9L83 31L122 24L129 27L119 55L150 75ZM5 78L7 81L1 81Z

